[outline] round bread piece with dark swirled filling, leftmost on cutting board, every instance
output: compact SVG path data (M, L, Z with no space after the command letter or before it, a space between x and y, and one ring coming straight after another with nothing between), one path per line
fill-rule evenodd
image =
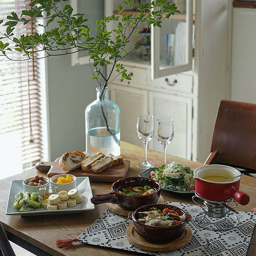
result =
M85 160L86 158L88 158L88 156L84 154L82 151L79 151L79 150L76 150L74 152L68 151L61 156L59 160L59 166L65 172L72 171L80 167L82 164L82 161Z

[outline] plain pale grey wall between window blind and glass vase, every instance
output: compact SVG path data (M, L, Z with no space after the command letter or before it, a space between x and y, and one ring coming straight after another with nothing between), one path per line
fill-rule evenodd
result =
M68 2L59 6L63 8L66 4ZM85 150L84 110L96 99L98 83L91 79L93 75L88 64L71 66L70 54L46 58L46 74L49 160L54 161L66 151Z

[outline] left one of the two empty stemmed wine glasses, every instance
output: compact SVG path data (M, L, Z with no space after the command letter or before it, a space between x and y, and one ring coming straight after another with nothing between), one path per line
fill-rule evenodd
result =
M150 116L150 115L138 116L137 133L138 133L138 137L143 141L144 148L145 148L145 161L142 163L138 163L137 167L143 168L143 169L154 167L155 166L154 163L150 163L147 161L148 142L152 139L154 135L153 116Z

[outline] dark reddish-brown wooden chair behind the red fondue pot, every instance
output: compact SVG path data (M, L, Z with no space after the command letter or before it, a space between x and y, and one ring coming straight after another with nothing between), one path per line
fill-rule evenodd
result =
M226 164L256 173L256 104L221 100L205 164Z

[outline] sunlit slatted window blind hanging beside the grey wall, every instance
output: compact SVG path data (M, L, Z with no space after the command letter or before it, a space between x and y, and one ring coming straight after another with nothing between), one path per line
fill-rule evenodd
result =
M21 10L30 8L29 4L30 0L0 1L0 20L5 23L12 11L20 16ZM0 32L5 33L7 26L2 24ZM31 34L35 28L35 23L24 26L20 22L14 35ZM8 42L14 49L14 43ZM8 56L12 60L0 56L0 144L4 155L12 156L9 165L15 164L21 171L20 168L25 170L42 159L40 65L38 60L19 61L24 56L15 50Z

